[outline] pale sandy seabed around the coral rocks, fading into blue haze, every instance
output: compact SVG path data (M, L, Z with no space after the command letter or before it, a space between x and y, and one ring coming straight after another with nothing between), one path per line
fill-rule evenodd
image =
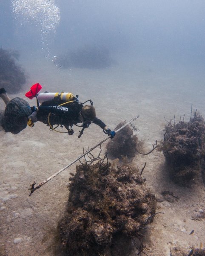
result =
M165 119L190 118L191 104L205 117L203 73L190 67L163 67L153 60L127 64L118 61L104 70L70 69L61 70L51 62L23 61L29 74L24 94L32 84L39 82L42 91L68 91L79 94L80 102L92 99L97 117L110 128L132 117L140 115L134 125L139 129L137 136L144 141L144 150L149 151L152 143L163 139ZM129 64L128 64L129 63ZM151 63L151 64L147 64ZM202 75L201 75L202 74ZM26 99L30 105L35 100ZM0 101L0 109L4 103ZM46 250L43 236L50 227L55 227L64 213L68 200L70 172L74 164L49 181L29 197L28 188L67 166L83 153L105 138L103 131L92 124L79 139L79 128L74 134L49 131L43 123L34 128L27 127L20 134L12 135L1 130L1 180L0 180L0 245L4 244L8 256L41 255ZM105 145L103 151L105 152ZM97 151L97 150L96 150ZM144 244L148 256L170 256L174 247L188 252L205 245L204 220L196 216L205 212L205 186L202 177L196 177L190 186L174 184L167 173L165 158L154 151L147 156L137 155L133 163L140 169L147 162L143 177L151 192L159 195L169 190L178 196L173 202L157 203L157 212L145 231ZM194 233L190 235L191 231ZM46 255L52 256L52 253Z

